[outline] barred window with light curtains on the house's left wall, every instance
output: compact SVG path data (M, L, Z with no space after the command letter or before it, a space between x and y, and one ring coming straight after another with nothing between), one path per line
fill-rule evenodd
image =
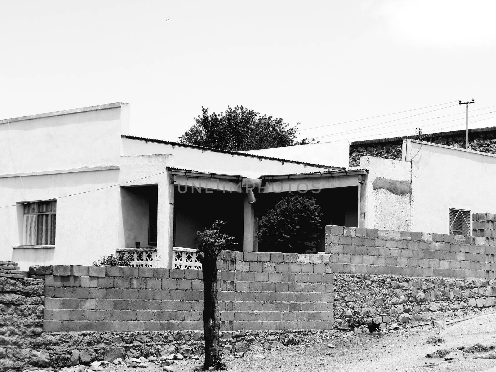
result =
M55 244L57 201L24 204L23 246Z

